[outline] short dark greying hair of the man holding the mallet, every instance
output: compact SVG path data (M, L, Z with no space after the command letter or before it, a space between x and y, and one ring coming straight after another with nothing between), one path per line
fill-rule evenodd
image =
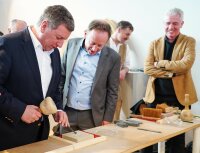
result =
M49 27L56 29L63 24L69 31L74 31L74 19L71 13L62 5L48 6L41 15L38 26L47 20Z

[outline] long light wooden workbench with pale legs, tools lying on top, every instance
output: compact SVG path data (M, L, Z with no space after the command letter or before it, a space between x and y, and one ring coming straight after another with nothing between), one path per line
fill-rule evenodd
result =
M183 122L179 127L159 125L150 121L142 122L143 124L140 125L140 128L160 131L161 133L138 130L137 127L130 126L128 128L120 128L116 125L97 127L88 131L106 135L106 141L70 153L94 153L94 150L95 153L131 153L147 146L164 142L169 138L190 130L195 130L195 133L198 134L194 137L195 139L199 139L200 137L200 122L197 120L194 121L194 123ZM164 153L163 146L160 145L160 147L159 152ZM200 153L200 144L198 140L194 142L193 153Z

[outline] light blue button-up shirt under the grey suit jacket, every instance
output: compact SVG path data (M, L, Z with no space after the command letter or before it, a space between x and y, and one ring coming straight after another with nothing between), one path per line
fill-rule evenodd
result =
M91 89L101 51L90 55L84 48L80 48L68 92L68 107L78 110L91 109Z

